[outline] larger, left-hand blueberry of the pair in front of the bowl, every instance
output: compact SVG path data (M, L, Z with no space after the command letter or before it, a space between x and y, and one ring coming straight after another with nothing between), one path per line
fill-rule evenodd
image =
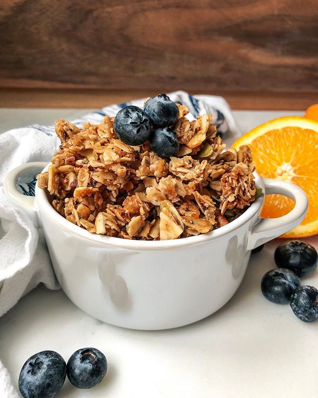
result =
M55 351L41 351L23 365L19 390L24 398L52 398L59 392L66 377L66 363Z

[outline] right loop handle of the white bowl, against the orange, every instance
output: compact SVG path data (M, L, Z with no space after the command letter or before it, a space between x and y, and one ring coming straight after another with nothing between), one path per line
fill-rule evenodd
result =
M280 194L288 196L295 201L295 207L282 217L260 218L248 235L248 250L254 249L295 228L303 221L308 209L307 195L296 185L269 178L263 178L262 180L266 195Z

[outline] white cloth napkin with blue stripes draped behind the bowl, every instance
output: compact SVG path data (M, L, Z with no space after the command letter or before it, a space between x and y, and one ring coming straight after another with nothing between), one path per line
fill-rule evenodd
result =
M231 109L222 97L192 97L182 91L170 93L169 97L188 106L189 118L212 113L213 123L227 144L239 136ZM106 114L115 116L121 108L129 104L143 106L143 102L141 99L107 106L73 122L79 126L88 120L99 123ZM49 289L59 289L42 230L35 228L23 211L10 207L3 193L3 180L9 171L26 162L49 162L59 144L54 126L32 125L0 134L0 316L41 282ZM32 196L33 184L20 188ZM0 397L16 397L14 394L0 362Z

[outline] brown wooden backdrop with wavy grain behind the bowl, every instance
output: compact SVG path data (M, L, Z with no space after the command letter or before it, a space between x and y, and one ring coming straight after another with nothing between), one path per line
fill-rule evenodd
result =
M318 0L1 0L0 106L318 102Z

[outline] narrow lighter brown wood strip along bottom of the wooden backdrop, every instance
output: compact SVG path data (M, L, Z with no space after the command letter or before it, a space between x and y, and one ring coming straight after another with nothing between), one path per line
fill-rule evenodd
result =
M168 93L159 91L109 91L82 89L0 89L0 107L20 108L100 108L112 103ZM190 92L190 94L211 94ZM305 110L318 102L315 93L260 93L260 92L218 92L214 95L225 97L232 109L263 110Z

